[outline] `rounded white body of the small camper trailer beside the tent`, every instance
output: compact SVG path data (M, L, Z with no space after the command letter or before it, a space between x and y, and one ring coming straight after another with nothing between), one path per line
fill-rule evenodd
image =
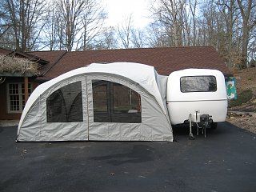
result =
M166 103L172 125L189 120L200 122L209 114L213 122L225 122L227 96L225 78L218 70L187 69L169 75Z

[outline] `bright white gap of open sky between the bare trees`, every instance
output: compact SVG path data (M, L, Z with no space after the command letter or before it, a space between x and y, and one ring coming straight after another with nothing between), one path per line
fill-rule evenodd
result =
M143 28L150 22L150 0L102 0L106 6L107 26L118 26L132 14L133 26Z

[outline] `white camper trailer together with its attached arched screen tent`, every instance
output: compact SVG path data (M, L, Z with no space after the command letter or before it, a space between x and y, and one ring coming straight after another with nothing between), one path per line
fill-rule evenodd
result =
M173 141L172 125L206 128L226 119L218 70L159 75L153 66L91 64L42 83L30 95L17 141Z

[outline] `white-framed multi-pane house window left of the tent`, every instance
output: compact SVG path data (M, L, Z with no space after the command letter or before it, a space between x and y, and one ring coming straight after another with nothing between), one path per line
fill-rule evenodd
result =
M25 107L25 86L22 82L7 84L7 109L8 113L21 113ZM28 84L29 96L32 93L32 85Z

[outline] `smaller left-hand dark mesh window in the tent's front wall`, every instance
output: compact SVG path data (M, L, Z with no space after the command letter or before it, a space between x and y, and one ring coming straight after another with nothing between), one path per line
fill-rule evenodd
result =
M81 82L55 90L46 99L47 122L82 122Z

